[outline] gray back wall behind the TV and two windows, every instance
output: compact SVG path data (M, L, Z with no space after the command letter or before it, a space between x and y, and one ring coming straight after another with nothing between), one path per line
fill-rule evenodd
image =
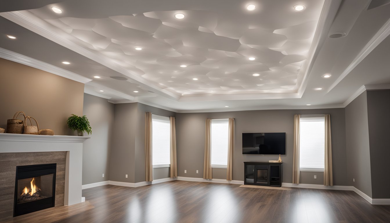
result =
M210 113L177 113L177 166L180 177L203 177L206 118L235 118L233 180L243 180L244 161L277 160L278 155L243 155L243 132L286 132L286 155L282 155L283 182L292 182L294 114L330 114L334 184L346 186L345 112L344 109L261 110ZM187 173L184 173L184 170ZM196 174L199 170L199 174ZM321 175L322 174L322 175ZM314 180L317 175L317 180ZM213 169L213 178L226 179L226 169ZM302 184L323 184L323 173L301 174Z

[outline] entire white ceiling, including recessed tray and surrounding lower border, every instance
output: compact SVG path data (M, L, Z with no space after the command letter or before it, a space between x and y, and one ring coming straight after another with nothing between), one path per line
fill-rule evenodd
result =
M390 18L390 5L366 11L368 2L346 0L339 7L340 1L332 1L328 9L323 9L323 1L145 0L135 4L115 0L108 4L73 0L20 11L23 20L13 20L45 36L27 24L39 23L39 27L57 35L45 36L56 43L2 19L5 32L18 39L2 39L0 47L91 79L99 75L102 78L86 84L85 92L115 103L138 101L175 111L293 108L308 103L313 108L340 107L364 84L390 83L384 68L371 66L372 59L365 63L376 69L370 80L362 75L348 82L339 78ZM257 5L255 11L245 9L251 3ZM298 3L305 4L306 10L294 11ZM54 13L52 6L63 13ZM328 14L321 14L326 10ZM183 20L174 18L179 12L186 15ZM12 20L10 14L1 15ZM329 27L316 30L320 15ZM329 30L344 31L347 36L330 39ZM312 42L315 32L323 38L318 46ZM34 42L39 44L30 44ZM104 60L79 55L80 48ZM383 52L376 54L388 57ZM255 61L248 60L252 56ZM66 66L60 61L72 64ZM181 64L188 67L181 68ZM347 77L357 71L352 70ZM254 77L253 73L260 76ZM321 78L324 73L332 73L332 77ZM323 90L314 90L317 87ZM301 94L299 89L303 89Z

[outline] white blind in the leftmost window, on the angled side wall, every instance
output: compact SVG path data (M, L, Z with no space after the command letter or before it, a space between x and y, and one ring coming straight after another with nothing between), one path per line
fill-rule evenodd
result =
M152 114L153 168L170 166L170 121L168 116Z

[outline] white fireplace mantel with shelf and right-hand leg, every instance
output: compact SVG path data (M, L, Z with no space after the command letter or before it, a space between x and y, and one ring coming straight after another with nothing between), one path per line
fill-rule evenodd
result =
M67 151L64 204L82 202L83 142L85 136L41 136L0 133L0 153Z

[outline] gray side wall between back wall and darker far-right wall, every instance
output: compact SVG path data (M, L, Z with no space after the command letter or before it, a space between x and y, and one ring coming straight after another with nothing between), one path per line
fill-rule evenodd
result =
M345 123L347 184L372 197L366 91L345 108Z

